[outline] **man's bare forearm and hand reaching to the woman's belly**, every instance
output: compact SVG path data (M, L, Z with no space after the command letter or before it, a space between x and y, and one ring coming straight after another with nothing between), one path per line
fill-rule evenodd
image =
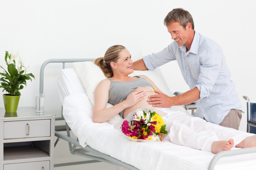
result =
M149 104L153 104L153 107L169 108L176 105L191 104L200 99L200 91L198 88L193 88L186 93L174 97L169 97L159 91L155 91L155 93L158 94L148 96L150 99L147 100Z

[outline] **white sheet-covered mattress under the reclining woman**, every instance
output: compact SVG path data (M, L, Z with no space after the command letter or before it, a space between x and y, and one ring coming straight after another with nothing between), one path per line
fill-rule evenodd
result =
M215 155L171 142L133 142L123 138L112 124L93 123L92 111L86 93L69 94L63 101L63 116L82 146L88 144L138 169L207 170ZM221 158L215 170L256 169L255 159L256 154Z

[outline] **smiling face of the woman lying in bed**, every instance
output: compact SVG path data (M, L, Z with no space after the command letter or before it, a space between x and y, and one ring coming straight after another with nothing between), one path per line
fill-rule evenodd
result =
M119 59L116 63L114 63L115 67L113 67L116 70L117 74L131 74L133 73L133 61L131 59L131 54L127 49L123 49L119 53Z

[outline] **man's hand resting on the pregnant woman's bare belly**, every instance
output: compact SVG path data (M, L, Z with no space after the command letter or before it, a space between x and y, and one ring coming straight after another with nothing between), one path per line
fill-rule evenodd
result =
M174 105L174 100L172 97L167 96L166 94L163 94L157 90L155 90L156 95L148 96L147 101L149 104L153 104L153 107L166 107L169 108Z

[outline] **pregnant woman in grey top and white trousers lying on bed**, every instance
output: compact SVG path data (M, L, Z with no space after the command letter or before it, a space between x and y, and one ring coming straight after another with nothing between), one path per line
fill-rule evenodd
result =
M102 123L119 114L125 118L130 112L148 104L148 96L157 94L154 82L146 76L129 77L133 61L129 51L121 45L110 47L104 57L95 59L108 79L102 80L94 93L93 121ZM114 105L106 108L107 103ZM157 108L167 113L163 117L171 142L215 154L232 147L256 147L256 135L208 123L169 108Z

